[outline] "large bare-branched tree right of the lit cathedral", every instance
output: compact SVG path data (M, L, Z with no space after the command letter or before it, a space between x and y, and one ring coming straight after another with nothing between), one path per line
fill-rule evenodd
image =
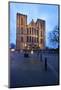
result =
M57 45L57 48L59 47L59 27L57 25L49 33L49 40L52 45Z

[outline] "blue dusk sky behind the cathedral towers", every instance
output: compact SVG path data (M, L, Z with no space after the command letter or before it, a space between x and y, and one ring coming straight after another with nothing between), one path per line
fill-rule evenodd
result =
M45 39L49 46L48 33L58 25L58 5L32 4L32 3L10 3L10 43L16 44L16 13L27 15L27 23L43 19L46 21Z

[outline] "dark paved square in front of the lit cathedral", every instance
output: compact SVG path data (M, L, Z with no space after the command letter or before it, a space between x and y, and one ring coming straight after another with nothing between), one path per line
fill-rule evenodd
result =
M45 71L47 57L47 71ZM58 54L29 54L10 52L10 87L59 84Z

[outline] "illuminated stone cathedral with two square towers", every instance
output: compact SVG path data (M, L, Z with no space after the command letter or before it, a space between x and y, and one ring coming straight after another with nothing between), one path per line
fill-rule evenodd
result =
M16 49L44 49L45 48L45 21L37 19L27 24L27 15L16 15Z

